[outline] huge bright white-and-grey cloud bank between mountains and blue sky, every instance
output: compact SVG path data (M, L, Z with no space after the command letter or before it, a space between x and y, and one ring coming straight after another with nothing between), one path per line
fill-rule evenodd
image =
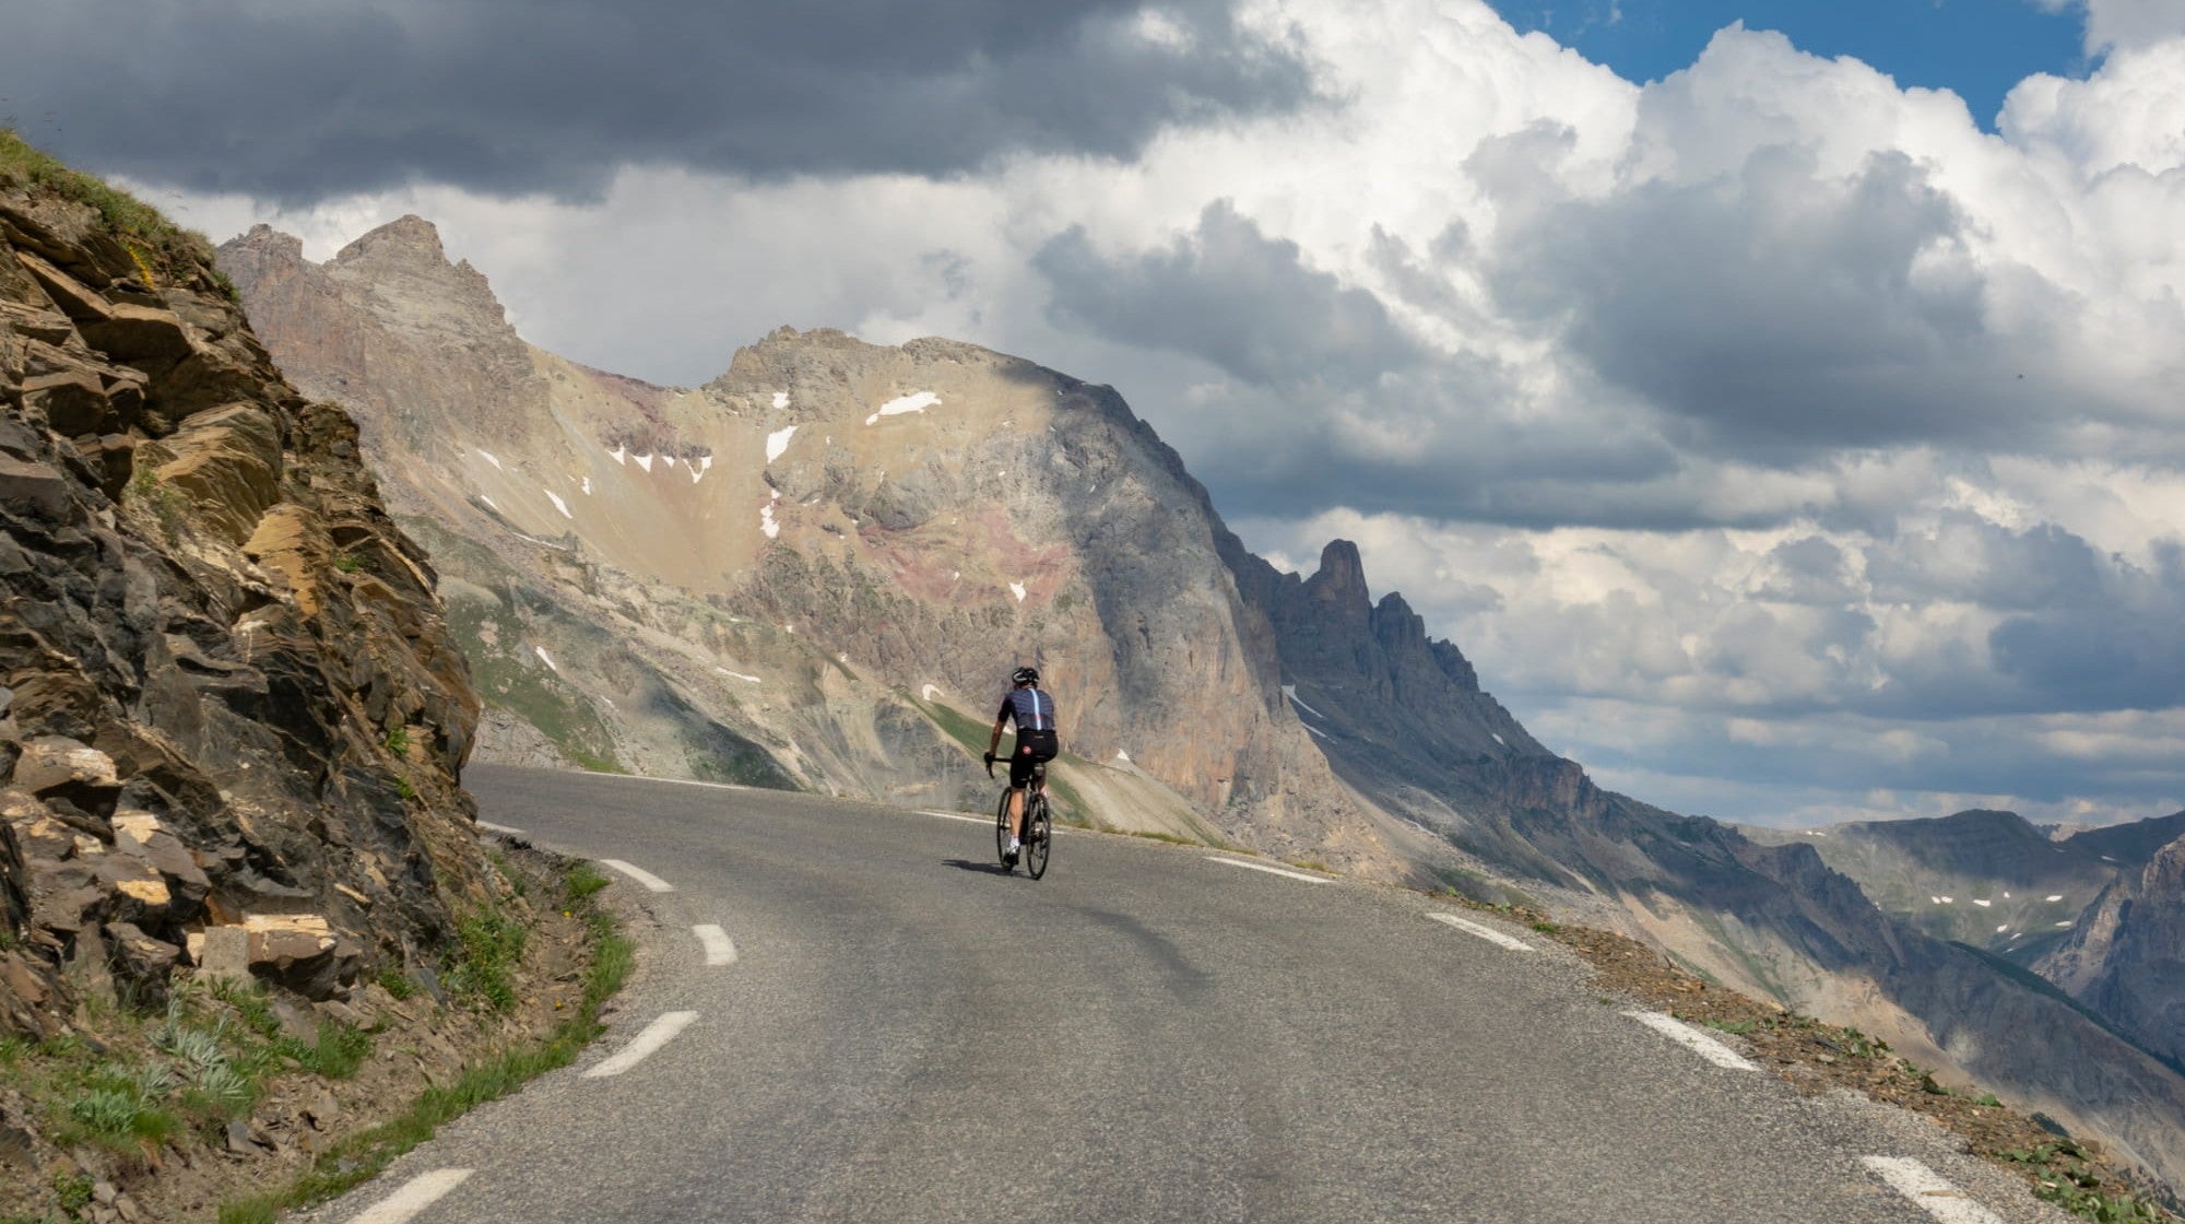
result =
M1337 103L1132 160L164 203L317 258L422 212L531 341L662 382L778 323L1114 382L1252 544L1357 538L1641 798L2124 811L2176 798L2148 745L2185 745L2124 684L2168 675L2185 592L2174 17L2093 0L2106 57L2021 83L1991 133L1770 33L1641 87L1477 0L1252 0Z

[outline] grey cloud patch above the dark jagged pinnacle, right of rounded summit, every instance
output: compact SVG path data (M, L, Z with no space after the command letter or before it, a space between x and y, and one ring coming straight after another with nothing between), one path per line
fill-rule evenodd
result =
M1429 352L1377 295L1230 203L1165 247L1110 258L1068 229L1034 262L1058 326L1204 363L1173 374L1193 389L1160 428L1230 514L1346 505L1567 522L1588 505L1630 522L1650 511L1628 485L1676 468L1637 428L1503 417L1516 393L1492 361ZM1658 509L1689 520L1682 505Z

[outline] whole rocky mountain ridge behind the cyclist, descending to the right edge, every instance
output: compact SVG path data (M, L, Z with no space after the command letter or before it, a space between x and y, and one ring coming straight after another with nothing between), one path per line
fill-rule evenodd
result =
M326 264L260 227L223 264L288 376L365 422L481 695L572 761L977 811L996 678L1029 658L1071 811L1556 887L2185 1180L2185 1080L1814 846L1602 791L1401 595L1372 601L1353 544L1309 577L1243 549L1108 387L787 328L651 387L524 345L417 219Z

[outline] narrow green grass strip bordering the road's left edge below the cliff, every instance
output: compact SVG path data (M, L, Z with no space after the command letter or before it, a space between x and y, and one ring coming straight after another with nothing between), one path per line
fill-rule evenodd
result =
M221 1204L221 1224L273 1224L282 1211L295 1211L334 1198L350 1187L371 1180L395 1156L433 1139L448 1121L470 1113L474 1106L505 1097L527 1080L568 1067L577 1051L601 1032L599 1008L636 966L636 944L623 935L614 916L594 901L605 887L605 876L590 863L575 863L562 876L564 914L581 918L590 957L583 975L583 999L577 1014L568 1016L538 1043L505 1049L465 1067L452 1082L426 1088L400 1117L382 1121L369 1130L350 1134L321 1152L312 1167L295 1182ZM470 922L465 920L465 927ZM474 931L476 951L485 962L498 962L507 953L507 933L494 922L481 922ZM472 935L463 935L465 957L472 957ZM492 1005L492 992L479 988L474 999Z

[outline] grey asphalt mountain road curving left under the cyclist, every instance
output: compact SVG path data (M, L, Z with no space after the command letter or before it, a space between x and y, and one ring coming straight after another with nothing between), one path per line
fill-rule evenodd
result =
M1481 920L1534 946L1512 951L1418 894L1084 833L1029 881L999 874L985 824L465 782L485 822L673 892L616 876L660 925L577 1067L310 1220L2054 1220L1925 1123L1711 1064L1532 931ZM673 1014L653 1054L586 1075ZM1868 1156L1969 1193L1918 1207Z

